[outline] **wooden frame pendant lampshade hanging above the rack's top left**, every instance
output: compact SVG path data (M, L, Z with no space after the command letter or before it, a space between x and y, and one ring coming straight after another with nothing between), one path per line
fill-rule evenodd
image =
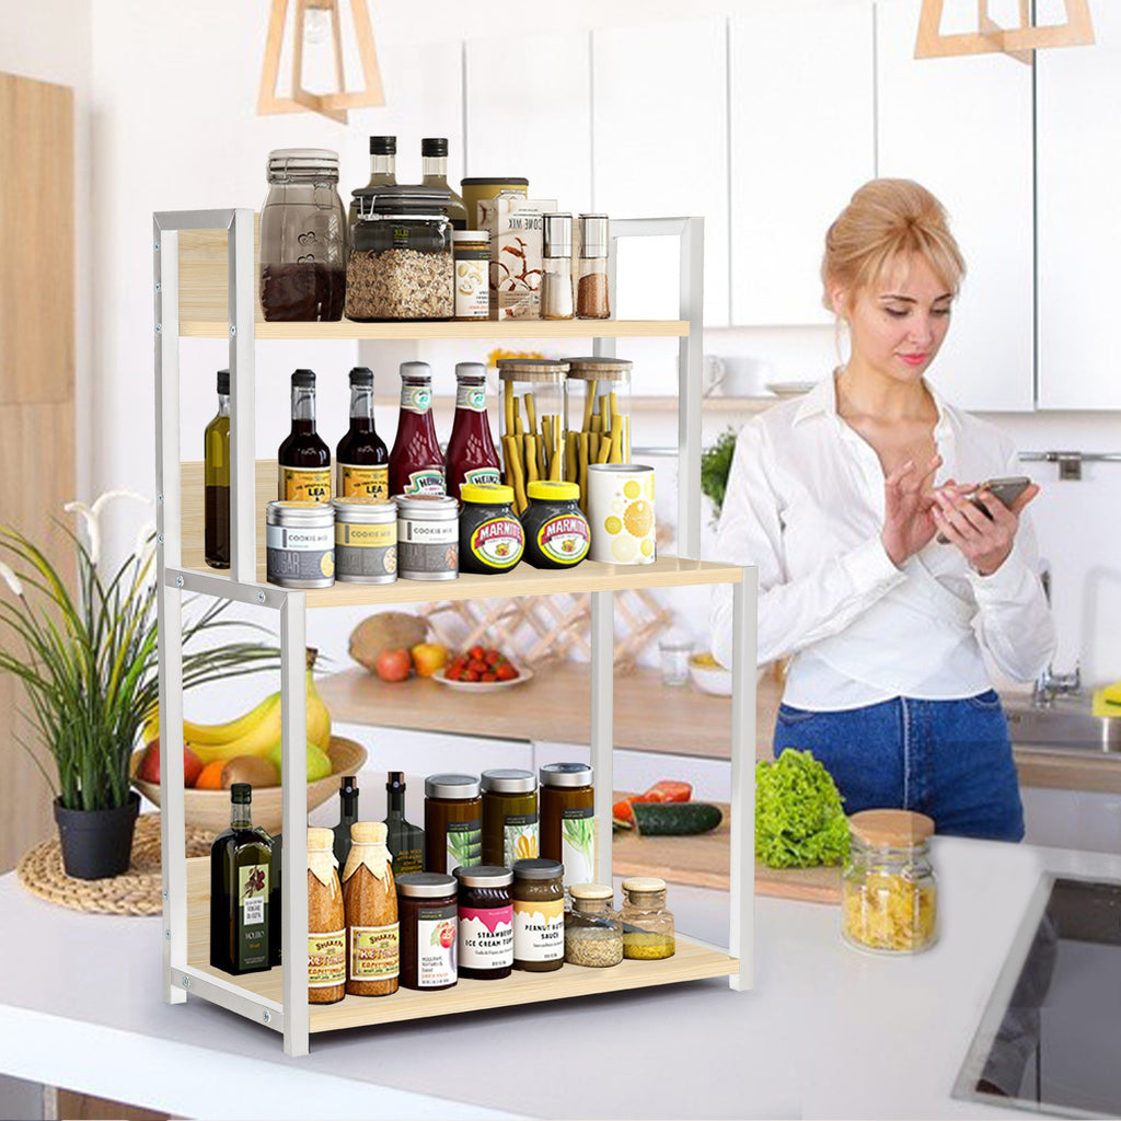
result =
M345 89L339 0L296 0L296 19L293 24L295 38L291 54L291 95L288 98L277 95L277 76L280 71L285 25L288 20L288 2L289 0L272 0L257 112L261 114L302 113L311 110L345 124L348 109L383 105L386 96L381 87L381 71L378 68L378 53L373 45L373 27L370 24L367 0L350 0L351 15L354 20L355 45L362 63L363 87L352 93L348 93ZM304 34L307 26L307 13L312 9L326 12L331 17L337 93L311 93L304 89Z

